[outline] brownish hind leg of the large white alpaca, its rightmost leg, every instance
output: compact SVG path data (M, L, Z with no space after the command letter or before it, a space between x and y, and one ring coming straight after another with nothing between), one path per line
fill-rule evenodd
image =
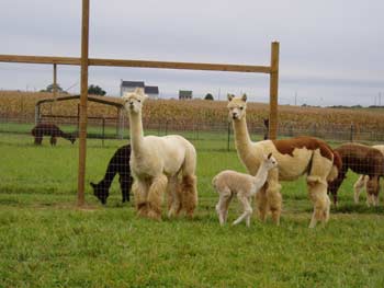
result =
M181 199L185 214L192 217L197 206L196 177L194 175L183 175L181 181Z

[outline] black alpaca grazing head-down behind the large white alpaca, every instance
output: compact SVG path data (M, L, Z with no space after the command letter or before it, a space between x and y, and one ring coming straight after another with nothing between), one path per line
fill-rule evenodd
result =
M129 169L129 157L131 145L118 148L108 164L103 180L98 184L93 182L90 183L93 188L93 195L98 197L103 205L106 204L106 198L110 196L110 187L116 174L120 175L118 182L123 196L122 201L129 201L129 191L133 182Z

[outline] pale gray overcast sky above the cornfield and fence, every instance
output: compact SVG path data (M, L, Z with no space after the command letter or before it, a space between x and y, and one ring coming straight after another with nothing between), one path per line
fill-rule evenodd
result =
M90 0L90 57L269 65L280 42L280 103L384 105L382 0ZM81 0L1 0L0 54L80 56ZM120 80L179 89L247 92L267 102L267 74L91 67L89 83L118 94ZM58 82L79 91L79 68ZM52 66L0 62L0 89L41 90Z

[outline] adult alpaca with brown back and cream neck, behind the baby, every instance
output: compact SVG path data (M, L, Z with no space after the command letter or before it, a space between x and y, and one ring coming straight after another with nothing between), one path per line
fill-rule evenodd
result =
M235 97L228 94L227 107L233 119L237 154L248 173L257 173L263 154L272 152L279 162L279 169L269 172L266 185L256 194L260 219L264 221L271 211L273 221L279 224L282 209L279 181L294 181L306 174L309 198L314 204L309 228L314 228L317 221L327 222L330 208L327 181L335 178L341 166L332 149L312 137L252 142L246 122L247 95Z

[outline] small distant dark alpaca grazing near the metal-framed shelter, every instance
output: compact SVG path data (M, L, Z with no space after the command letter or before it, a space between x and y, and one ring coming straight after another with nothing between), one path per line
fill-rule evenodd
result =
M50 145L55 146L57 142L57 137L63 137L69 140L71 143L75 142L76 136L75 134L64 133L52 123L39 123L32 130L32 136L35 138L35 145L42 145L43 136L50 136Z

